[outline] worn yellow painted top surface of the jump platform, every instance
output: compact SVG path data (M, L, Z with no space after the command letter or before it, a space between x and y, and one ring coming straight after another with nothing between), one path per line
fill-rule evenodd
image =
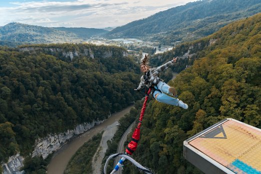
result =
M227 120L189 144L225 167L238 159L261 172L260 129Z

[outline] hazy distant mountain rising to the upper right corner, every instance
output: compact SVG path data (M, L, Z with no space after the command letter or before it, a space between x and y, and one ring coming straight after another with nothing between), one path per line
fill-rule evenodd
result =
M119 26L113 37L149 37L164 44L197 39L231 21L261 12L261 0L198 0Z

